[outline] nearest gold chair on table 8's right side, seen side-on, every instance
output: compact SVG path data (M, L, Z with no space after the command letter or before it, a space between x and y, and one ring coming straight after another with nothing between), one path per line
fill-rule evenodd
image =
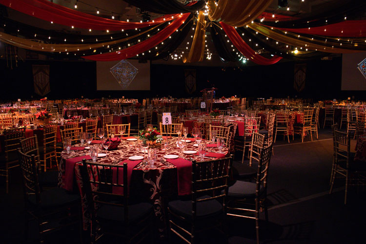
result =
M264 209L265 220L268 221L266 198L271 152L272 144L260 149L255 183L239 180L227 190L226 215L255 220L257 244L260 244L259 212L261 209Z

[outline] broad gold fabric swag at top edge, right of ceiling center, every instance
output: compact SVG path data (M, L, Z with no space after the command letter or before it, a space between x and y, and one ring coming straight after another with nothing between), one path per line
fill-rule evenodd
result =
M207 2L211 21L222 21L241 27L255 20L271 4L272 0L209 0Z

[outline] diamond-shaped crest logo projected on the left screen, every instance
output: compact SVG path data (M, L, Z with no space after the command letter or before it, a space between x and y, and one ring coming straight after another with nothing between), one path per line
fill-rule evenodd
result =
M111 73L123 89L127 88L139 72L135 66L122 60L111 68Z

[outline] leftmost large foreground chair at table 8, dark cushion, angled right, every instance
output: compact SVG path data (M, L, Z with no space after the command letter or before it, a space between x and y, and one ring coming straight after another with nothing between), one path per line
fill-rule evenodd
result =
M80 194L66 192L61 187L42 191L35 155L27 155L20 150L18 155L24 191L25 233L28 233L29 222L34 222L34 219L38 224L39 243L44 243L43 236L56 229L69 225L77 227L81 221Z

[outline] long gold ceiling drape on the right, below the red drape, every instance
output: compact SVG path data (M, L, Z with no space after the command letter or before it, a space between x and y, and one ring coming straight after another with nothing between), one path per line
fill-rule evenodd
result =
M327 45L323 45L320 44L319 41L317 41L318 43L314 43L315 41L312 40L311 38L308 37L302 37L303 40L300 40L296 37L298 37L298 35L293 34L293 33L289 33L287 32L285 34L285 32L276 32L271 30L268 27L265 27L263 25L257 24L257 23L249 23L248 27L251 28L252 30L257 31L258 33L261 33L262 35L268 37L268 38L272 38L276 41L281 41L284 42L286 44L289 45L293 45L293 46L297 46L297 47L302 47L304 49L308 48L311 50L316 50L316 51L322 51L322 52L326 52L326 53L357 53L357 52L361 52L361 50L352 50L352 49L347 49L347 47L341 47L341 45L339 43L327 43ZM337 47L335 47L335 45L337 45Z

